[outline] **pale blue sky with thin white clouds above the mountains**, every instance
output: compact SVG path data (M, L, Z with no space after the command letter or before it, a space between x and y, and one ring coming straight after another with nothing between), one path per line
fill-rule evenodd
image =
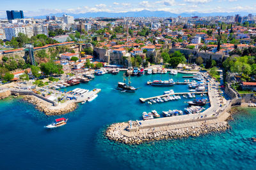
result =
M171 13L256 13L256 0L1 0L0 17L6 10L23 10L25 17L50 13L169 11Z

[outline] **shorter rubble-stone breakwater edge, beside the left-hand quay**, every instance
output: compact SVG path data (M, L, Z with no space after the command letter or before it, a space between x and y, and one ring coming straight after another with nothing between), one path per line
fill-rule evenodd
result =
M44 112L45 115L63 115L70 111L74 111L77 108L76 103L68 103L64 107L52 106L52 104L35 96L24 96L23 99L34 104L36 109Z

